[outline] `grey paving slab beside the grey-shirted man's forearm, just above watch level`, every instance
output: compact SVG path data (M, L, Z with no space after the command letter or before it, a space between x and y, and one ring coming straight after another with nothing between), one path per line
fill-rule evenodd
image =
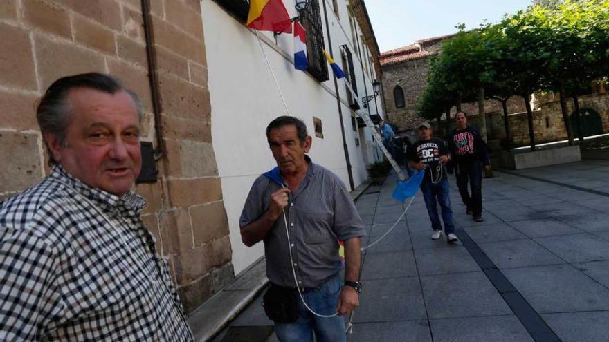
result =
M362 281L369 279L417 276L417 265L412 251L366 254L361 272Z

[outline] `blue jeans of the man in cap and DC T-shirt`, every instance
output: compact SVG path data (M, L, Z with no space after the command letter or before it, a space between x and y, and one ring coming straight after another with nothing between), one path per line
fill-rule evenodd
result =
M444 221L444 233L453 234L455 233L455 220L451 208L451 195L448 191L448 180L440 180L437 184L432 184L428 179L421 182L421 193L423 193L427 213L431 220L431 227L433 230L442 230L437 214L437 202L439 202L442 221Z

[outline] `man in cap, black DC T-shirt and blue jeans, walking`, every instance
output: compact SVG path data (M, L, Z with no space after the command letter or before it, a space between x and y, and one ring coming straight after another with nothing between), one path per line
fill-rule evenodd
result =
M418 133L419 141L412 144L408 160L410 167L417 170L426 169L425 177L421 182L421 193L433 228L431 238L437 240L442 236L442 224L437 213L439 202L446 238L449 243L455 243L459 239L455 235L455 220L444 166L451 160L451 155L442 140L431 136L431 125L428 122L419 125Z

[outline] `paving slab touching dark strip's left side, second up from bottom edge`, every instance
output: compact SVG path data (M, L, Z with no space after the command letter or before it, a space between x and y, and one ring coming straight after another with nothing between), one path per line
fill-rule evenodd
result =
M512 314L482 272L421 276L430 319Z

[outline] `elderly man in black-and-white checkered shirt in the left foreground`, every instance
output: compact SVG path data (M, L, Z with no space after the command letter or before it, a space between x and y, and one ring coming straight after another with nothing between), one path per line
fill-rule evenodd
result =
M0 203L0 341L192 341L131 191L140 118L136 95L97 73L40 99L53 169Z

